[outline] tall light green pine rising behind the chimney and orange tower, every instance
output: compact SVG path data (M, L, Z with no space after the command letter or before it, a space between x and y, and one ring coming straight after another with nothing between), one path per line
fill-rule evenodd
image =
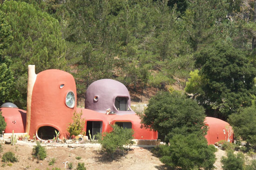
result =
M13 36L2 56L12 61L9 69L16 80L15 88L19 89L14 102L25 108L27 65L35 64L36 73L45 69L66 70L65 42L58 21L32 4L6 0L0 10L11 25Z

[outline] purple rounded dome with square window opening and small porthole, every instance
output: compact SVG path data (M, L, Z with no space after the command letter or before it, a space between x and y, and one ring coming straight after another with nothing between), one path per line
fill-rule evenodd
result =
M100 113L107 109L118 115L135 114L131 109L128 89L121 82L101 79L89 85L85 95L85 108Z

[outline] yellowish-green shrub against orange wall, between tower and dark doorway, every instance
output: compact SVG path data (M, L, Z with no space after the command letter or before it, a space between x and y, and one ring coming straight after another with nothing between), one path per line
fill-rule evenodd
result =
M70 138L74 135L77 136L83 132L85 119L81 118L82 111L77 113L76 111L73 113L72 123L69 123L67 127L67 131L69 132Z

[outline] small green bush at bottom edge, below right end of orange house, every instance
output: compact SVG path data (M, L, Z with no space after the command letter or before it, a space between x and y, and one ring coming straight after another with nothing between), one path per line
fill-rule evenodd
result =
M243 153L237 153L235 155L233 151L229 150L227 157L222 157L221 163L223 170L243 170Z

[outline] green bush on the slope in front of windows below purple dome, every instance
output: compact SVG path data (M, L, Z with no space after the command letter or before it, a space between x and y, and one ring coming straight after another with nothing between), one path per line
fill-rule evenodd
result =
M112 155L114 158L114 153L117 150L124 151L125 146L130 146L134 143L132 141L134 132L132 129L117 125L112 126L112 128L112 132L97 133L96 138L98 139L98 143L101 144L101 150Z

